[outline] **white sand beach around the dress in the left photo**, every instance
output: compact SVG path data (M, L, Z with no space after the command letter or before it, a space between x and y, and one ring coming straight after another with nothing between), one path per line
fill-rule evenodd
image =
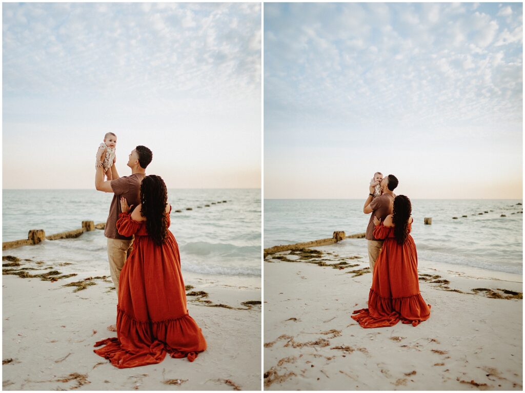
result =
M19 263L22 268L46 267ZM241 304L260 302L260 290L236 285L235 277L185 273L185 284L194 286L188 293L207 293L187 296L207 350L193 363L166 356L160 364L118 369L93 353L95 342L117 336L106 330L116 317L113 283L83 279L51 282L3 275L4 390L260 390L260 304ZM78 292L75 286L62 286L77 281L94 284Z

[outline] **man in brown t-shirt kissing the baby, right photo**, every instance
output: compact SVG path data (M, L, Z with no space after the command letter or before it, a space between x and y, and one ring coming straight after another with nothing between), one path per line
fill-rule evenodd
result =
M372 274L374 273L374 264L379 256L381 248L383 247L383 240L378 240L374 238L374 216L377 219L383 221L386 216L392 214L394 209L394 198L395 194L393 190L397 187L398 184L397 177L394 175L388 175L379 184L381 186L381 195L374 198L374 187L369 187L369 196L366 198L363 207L364 214L370 214L370 221L368 222L368 227L366 228L366 240L368 241L368 258L370 262L370 269Z

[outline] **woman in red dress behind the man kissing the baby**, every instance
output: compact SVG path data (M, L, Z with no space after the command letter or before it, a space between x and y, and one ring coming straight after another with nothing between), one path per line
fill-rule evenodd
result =
M411 213L410 199L398 195L393 214L383 223L374 217L374 238L385 241L374 267L369 308L355 310L352 315L363 327L393 326L400 320L416 326L430 316L430 305L419 292Z

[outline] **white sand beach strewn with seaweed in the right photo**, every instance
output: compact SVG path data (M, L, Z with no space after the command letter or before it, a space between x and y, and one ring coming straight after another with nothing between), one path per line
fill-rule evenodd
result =
M430 318L365 329L359 241L265 260L265 390L522 390L521 275L419 260Z

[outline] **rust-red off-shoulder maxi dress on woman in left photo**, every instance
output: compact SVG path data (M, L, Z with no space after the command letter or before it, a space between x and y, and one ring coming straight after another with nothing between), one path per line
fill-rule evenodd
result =
M186 309L173 233L168 230L165 243L157 246L145 221L134 221L129 213L119 215L117 230L122 236L135 235L133 251L120 272L117 337L97 342L96 347L107 345L93 352L118 368L160 363L166 354L193 362L206 349L206 340Z

